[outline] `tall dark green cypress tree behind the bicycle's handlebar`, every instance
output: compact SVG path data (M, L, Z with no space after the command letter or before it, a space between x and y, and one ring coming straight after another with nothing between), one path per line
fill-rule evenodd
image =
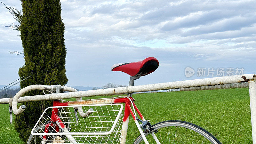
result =
M20 88L32 84L60 84L68 82L65 69L66 48L64 45L64 23L61 19L60 0L21 0L22 12L11 10L20 26L11 26L20 31L25 64L19 76L31 76L20 83ZM27 95L41 95L30 91ZM16 116L14 127L19 137L26 142L31 130L45 108L52 101L21 103L26 110ZM19 107L18 107L19 108Z

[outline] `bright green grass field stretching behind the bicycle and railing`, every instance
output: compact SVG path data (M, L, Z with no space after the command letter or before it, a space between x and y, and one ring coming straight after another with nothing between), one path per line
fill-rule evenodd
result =
M248 88L143 93L133 97L151 124L164 120L188 121L208 130L222 143L252 143ZM23 143L9 123L8 104L0 105L0 110L0 143ZM138 135L130 117L126 143L132 143Z

